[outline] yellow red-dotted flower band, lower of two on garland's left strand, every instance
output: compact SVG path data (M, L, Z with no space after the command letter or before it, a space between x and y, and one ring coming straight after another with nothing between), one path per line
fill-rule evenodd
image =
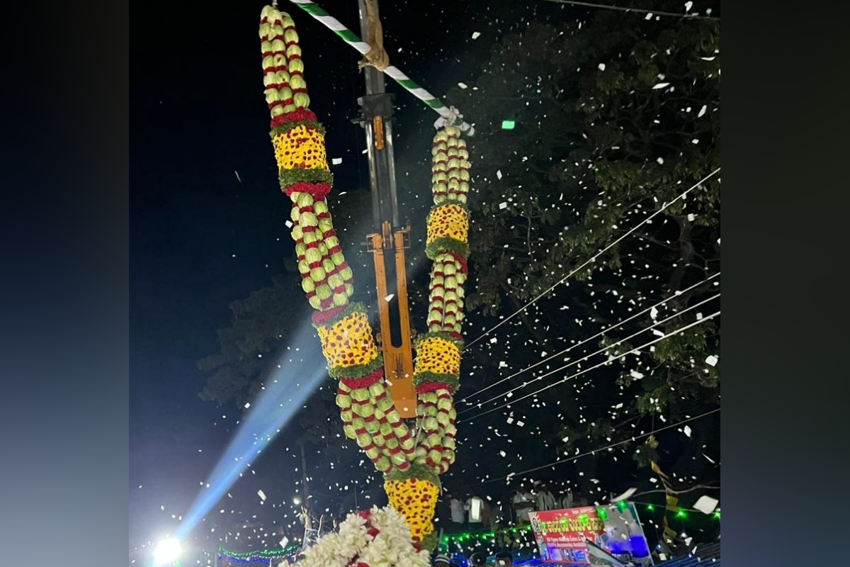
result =
M331 368L369 364L377 358L369 318L361 311L354 311L332 326L319 326L316 331L322 354Z

